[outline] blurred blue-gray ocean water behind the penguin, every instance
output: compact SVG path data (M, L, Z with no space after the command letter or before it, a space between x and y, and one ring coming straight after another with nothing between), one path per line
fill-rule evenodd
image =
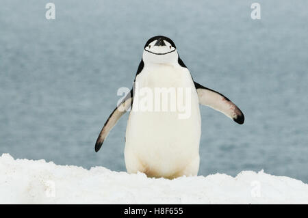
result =
M164 35L192 77L242 109L201 107L199 175L242 170L308 182L308 1L1 0L0 155L125 171L128 113L94 143L131 87L143 46Z

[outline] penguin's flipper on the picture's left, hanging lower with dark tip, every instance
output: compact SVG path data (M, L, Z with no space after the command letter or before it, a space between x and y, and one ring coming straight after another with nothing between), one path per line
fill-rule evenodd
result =
M112 111L109 118L105 122L103 128L101 129L101 133L99 133L99 137L97 138L97 143L95 144L95 152L98 152L101 148L105 138L112 130L116 122L120 119L120 117L131 107L133 103L133 90L125 96L124 100Z

